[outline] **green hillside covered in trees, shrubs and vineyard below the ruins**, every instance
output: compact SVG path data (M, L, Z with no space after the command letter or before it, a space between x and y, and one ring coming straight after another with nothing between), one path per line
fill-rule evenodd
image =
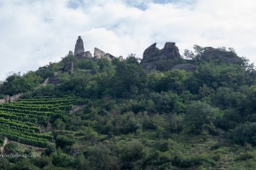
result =
M0 169L255 169L256 71L219 50L195 46L149 72L134 54L70 55L10 75L1 97L23 95L0 105L4 153L40 156L1 158ZM169 69L181 63L195 67Z

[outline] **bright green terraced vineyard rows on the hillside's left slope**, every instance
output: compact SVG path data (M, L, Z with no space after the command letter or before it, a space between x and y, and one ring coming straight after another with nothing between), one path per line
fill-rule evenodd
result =
M52 140L51 133L41 133L39 124L49 122L54 113L70 111L72 105L84 105L86 99L32 98L0 105L0 133L21 144L44 147Z

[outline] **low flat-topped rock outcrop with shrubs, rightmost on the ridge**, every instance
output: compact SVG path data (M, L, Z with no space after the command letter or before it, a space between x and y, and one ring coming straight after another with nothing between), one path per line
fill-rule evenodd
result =
M232 65L239 64L241 62L241 59L232 51L225 51L212 47L207 47L204 49L204 52L201 54L201 60L203 61L218 59L220 62L225 62Z

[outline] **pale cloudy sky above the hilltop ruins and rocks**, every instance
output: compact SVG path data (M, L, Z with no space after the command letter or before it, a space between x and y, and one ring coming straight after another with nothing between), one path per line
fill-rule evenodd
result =
M108 3L107 3L108 2ZM0 80L60 61L79 36L84 49L136 54L154 42L235 48L256 63L253 0L0 0Z

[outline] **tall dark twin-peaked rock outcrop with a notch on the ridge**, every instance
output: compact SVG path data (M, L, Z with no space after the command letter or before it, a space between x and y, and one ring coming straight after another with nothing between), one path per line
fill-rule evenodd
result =
M167 70L169 70L173 66L173 62L170 62L173 59L182 59L175 42L166 42L165 47L162 49L156 48L156 43L154 43L145 49L141 65L146 71L152 72L158 70L160 62L168 60L168 63L172 63L171 66L166 66Z

